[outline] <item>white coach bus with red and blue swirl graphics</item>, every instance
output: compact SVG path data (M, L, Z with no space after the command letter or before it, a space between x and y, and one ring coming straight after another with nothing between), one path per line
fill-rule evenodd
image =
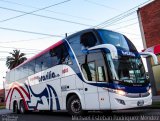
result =
M10 70L5 92L6 108L16 113L81 115L152 104L140 53L126 36L104 29L70 35Z

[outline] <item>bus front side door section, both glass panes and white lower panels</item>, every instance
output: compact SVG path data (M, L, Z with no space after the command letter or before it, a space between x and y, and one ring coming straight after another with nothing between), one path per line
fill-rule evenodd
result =
M81 69L87 83L84 83L84 95L87 109L110 109L109 94L103 87L107 85L107 69L100 50L85 57Z

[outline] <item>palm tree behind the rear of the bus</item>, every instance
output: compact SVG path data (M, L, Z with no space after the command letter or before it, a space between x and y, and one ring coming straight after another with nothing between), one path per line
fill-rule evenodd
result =
M21 53L20 50L13 50L13 52L9 54L11 54L11 56L7 57L6 66L10 70L27 60L25 54Z

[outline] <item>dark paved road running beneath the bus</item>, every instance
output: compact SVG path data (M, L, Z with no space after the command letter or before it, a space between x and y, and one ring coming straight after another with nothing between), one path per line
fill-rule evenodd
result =
M3 111L4 112L4 111ZM73 117L66 112L34 112L29 114L0 114L0 121L93 121L93 120L111 120L111 121L159 121L160 109L138 109L115 111L112 115L105 115L100 112L89 112L86 116ZM0 111L1 113L1 111Z

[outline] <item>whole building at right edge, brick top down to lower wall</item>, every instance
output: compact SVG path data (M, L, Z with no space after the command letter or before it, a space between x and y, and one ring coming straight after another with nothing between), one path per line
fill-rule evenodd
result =
M154 0L139 8L137 12L144 49L153 48L155 53L154 47L160 45L160 0ZM154 65L152 58L148 57L147 66L153 95L160 95L160 51L156 54L159 64Z

